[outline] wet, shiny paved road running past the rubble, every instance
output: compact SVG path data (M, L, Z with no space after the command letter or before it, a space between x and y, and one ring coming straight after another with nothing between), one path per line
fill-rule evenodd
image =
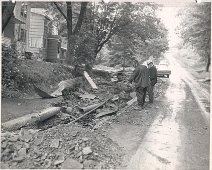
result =
M140 170L209 169L209 113L198 101L205 95L175 59L158 116L132 156L128 168Z

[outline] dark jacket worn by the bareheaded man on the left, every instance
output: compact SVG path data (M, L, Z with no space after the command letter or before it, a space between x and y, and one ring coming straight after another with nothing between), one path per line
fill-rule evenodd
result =
M150 83L149 81L149 70L144 65L138 65L135 70L133 71L133 74L129 78L129 82L135 82L135 87L147 87Z

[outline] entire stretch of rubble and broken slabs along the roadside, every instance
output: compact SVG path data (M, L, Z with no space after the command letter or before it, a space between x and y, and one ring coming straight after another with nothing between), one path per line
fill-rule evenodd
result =
M2 133L2 168L109 169L121 164L122 149L105 136L102 125L117 113L132 112L133 104L125 106L135 93L126 82L127 74L109 75L92 76L97 89L83 81L74 90L62 90L63 101L52 103L60 112L51 118L28 129ZM166 86L165 80L158 79L155 97Z

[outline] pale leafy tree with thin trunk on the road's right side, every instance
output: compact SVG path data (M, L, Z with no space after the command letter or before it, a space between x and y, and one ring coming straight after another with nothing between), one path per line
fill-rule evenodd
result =
M206 71L209 71L211 62L211 4L200 3L193 5L186 11L178 14L182 22L177 28L183 43L191 45L197 54L207 61Z

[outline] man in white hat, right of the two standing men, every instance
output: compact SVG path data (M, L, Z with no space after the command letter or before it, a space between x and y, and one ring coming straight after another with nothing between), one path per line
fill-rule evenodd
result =
M149 76L150 76L150 84L148 86L148 93L149 93L149 102L153 103L153 96L154 96L154 86L157 83L157 69L154 66L151 60L147 61L148 69L149 69Z

